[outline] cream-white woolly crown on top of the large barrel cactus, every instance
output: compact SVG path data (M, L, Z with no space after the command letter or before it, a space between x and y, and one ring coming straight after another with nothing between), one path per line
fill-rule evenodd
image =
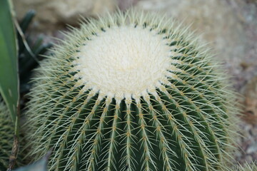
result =
M166 35L142 26L119 26L91 36L74 61L78 86L110 98L135 99L167 82L172 70Z

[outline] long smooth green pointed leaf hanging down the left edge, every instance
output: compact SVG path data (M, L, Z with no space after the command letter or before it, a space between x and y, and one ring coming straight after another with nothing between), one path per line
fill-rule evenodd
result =
M0 0L0 93L16 122L19 100L16 31L8 0Z

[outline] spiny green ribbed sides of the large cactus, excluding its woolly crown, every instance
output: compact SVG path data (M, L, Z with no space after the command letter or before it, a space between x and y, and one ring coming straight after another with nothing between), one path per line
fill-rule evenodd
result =
M129 11L69 33L34 78L26 123L30 155L39 158L53 148L50 170L222 169L236 113L233 93L204 46L165 20ZM81 43L96 30L126 23L173 40L168 46L177 62L168 82L138 99L121 100L78 86L73 61Z

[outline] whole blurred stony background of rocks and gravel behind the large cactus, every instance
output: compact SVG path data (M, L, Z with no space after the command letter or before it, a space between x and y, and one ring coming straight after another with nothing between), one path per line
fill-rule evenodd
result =
M16 17L21 20L29 10L36 16L26 31L32 41L56 43L68 31L67 24L79 27L79 19L103 16L117 8L131 6L156 11L191 25L203 42L209 43L215 60L231 77L240 93L241 138L236 161L257 160L257 0L13 0Z

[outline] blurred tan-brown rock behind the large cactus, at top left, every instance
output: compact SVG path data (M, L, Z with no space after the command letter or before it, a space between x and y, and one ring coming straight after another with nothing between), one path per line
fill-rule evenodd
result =
M51 24L78 24L80 16L101 16L106 11L114 11L117 5L117 0L14 0L18 19L34 9L41 29Z

